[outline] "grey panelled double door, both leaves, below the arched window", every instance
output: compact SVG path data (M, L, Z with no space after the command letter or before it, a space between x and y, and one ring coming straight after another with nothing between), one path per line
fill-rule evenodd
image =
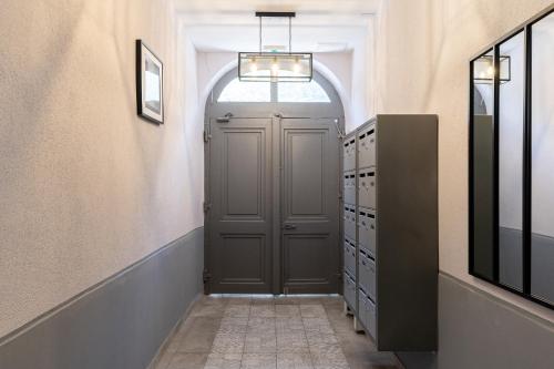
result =
M208 293L339 290L336 119L208 119Z

